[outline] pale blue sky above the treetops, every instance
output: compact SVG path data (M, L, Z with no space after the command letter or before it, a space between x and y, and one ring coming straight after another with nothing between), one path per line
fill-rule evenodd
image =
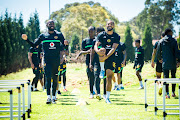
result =
M67 3L88 2L89 0L51 0L51 12L59 10ZM102 6L114 14L119 21L128 21L137 16L144 9L145 0L92 0L101 3ZM40 27L44 30L45 20L49 16L49 0L0 0L0 13L4 14L6 8L12 16L16 13L17 17L22 12L24 24L26 25L30 15L35 11L39 13ZM176 32L179 26L175 26Z

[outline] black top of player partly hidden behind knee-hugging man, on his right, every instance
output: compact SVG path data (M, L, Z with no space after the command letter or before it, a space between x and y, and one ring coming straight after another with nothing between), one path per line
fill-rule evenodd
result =
M122 63L124 60L123 51L126 49L126 45L122 42L119 43L116 51L115 51L115 62Z

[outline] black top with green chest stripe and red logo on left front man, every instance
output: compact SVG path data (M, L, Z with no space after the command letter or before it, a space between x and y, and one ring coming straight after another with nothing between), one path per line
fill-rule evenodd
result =
M32 46L36 47L42 43L42 48L44 52L44 59L59 59L60 51L64 50L64 36L61 32L54 31L53 34L48 32L39 35L38 40L35 43L27 40L27 42Z

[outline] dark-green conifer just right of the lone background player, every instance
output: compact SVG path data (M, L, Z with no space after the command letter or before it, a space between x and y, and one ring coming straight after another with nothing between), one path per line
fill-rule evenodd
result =
M152 50L153 50L153 45L152 45L151 27L149 24L146 24L146 27L145 27L144 36L142 40L142 46L144 48L144 60L145 61L150 60Z

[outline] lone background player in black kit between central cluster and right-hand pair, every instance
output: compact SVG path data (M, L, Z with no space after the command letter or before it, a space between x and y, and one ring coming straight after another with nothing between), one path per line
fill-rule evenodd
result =
M144 65L144 49L140 46L140 40L135 40L135 63L133 69L136 68L136 75L139 79L140 87L139 89L144 89L141 77L141 71Z

